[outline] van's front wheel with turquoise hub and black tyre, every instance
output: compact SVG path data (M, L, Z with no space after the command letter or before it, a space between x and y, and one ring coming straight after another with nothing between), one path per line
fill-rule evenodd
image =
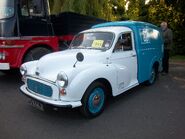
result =
M82 98L81 113L87 118L101 114L106 102L106 88L100 82L91 84Z

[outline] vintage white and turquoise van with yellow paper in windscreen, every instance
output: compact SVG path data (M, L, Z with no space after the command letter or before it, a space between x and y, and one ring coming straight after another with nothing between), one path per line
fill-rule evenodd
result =
M103 23L77 34L70 49L23 64L21 91L33 104L80 107L85 116L95 117L107 96L143 82L153 84L162 70L162 57L163 40L155 25Z

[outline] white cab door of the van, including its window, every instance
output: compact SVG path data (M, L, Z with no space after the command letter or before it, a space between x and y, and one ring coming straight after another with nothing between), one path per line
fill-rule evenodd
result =
M111 57L111 62L117 69L116 95L138 85L137 56L133 40L132 32L121 33Z

